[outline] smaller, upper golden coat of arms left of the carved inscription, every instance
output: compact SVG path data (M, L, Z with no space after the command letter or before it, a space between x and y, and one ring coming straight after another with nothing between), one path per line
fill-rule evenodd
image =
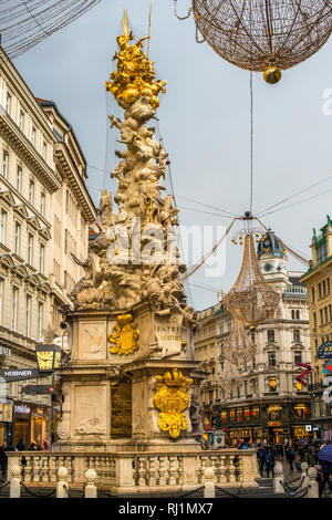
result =
M115 325L112 333L108 334L108 341L114 343L114 346L110 347L110 352L120 355L132 354L139 349L137 323L134 323L132 314L120 314L116 320L118 325Z

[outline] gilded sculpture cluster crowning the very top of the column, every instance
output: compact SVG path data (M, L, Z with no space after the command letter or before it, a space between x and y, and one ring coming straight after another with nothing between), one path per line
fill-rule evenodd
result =
M123 35L117 37L118 52L113 60L117 61L116 71L110 75L110 81L105 82L106 90L110 91L117 103L128 108L139 96L151 97L152 106L156 110L159 106L158 94L165 93L165 81L157 81L154 71L154 63L145 55L143 42L149 37L141 38L136 43L128 27L127 12L125 10L122 22Z

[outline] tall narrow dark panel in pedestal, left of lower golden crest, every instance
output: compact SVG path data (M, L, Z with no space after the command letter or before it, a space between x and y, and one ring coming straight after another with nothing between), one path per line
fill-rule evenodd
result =
M111 437L132 437L132 382L123 378L112 387Z

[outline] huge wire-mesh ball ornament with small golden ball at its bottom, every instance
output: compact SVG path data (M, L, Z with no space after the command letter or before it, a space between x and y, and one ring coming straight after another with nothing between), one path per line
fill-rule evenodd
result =
M331 0L191 1L188 15L203 41L234 65L262 72L269 84L318 52L332 31Z

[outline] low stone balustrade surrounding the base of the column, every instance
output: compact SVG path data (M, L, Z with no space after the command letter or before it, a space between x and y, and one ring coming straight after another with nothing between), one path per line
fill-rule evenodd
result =
M54 453L8 451L8 470L20 466L27 486L56 483L60 467L72 488L82 488L85 472L96 472L96 487L113 492L189 491L205 485L205 469L214 468L215 485L256 487L256 450L218 449L170 453ZM22 466L22 457L27 465Z

